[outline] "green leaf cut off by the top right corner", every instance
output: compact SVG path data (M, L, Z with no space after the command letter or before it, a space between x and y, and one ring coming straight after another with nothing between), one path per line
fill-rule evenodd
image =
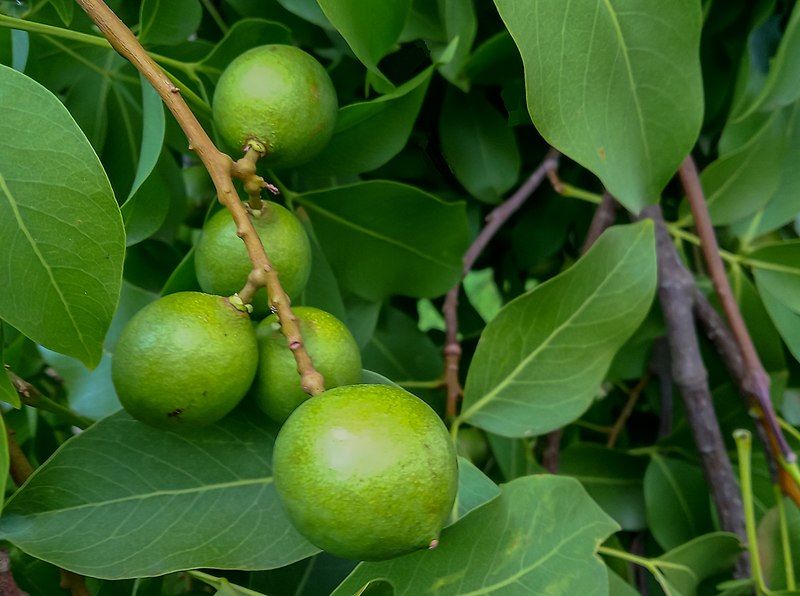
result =
M796 74L798 68L800 68L800 6L795 5L781 38L781 44L778 46L778 52L770 63L764 87L750 109L740 119L744 119L756 110L771 110L800 99L800 83Z

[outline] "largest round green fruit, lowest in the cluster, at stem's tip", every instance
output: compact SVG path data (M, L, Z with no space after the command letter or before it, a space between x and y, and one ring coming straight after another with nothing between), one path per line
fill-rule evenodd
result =
M438 539L458 485L442 421L396 387L350 385L303 402L273 454L295 527L331 554L375 561Z

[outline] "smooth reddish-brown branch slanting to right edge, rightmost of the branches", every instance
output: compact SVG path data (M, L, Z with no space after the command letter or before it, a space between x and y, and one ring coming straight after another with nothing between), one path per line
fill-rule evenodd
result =
M711 216L708 212L708 205L706 204L703 186L700 182L700 175L697 172L697 166L691 155L683 161L678 173L683 188L686 191L689 206L692 209L692 216L694 218L695 227L697 228L697 234L700 236L700 244L703 249L703 256L709 276L714 284L714 290L719 297L720 304L728 319L730 330L741 355L743 377L740 381L740 387L742 391L753 400L756 406L756 413L763 420L764 430L769 437L769 443L771 445L771 456L778 462L785 461L790 465L794 465L797 462L797 456L789 447L789 443L783 436L778 418L772 406L772 399L770 398L769 375L766 370L764 370L763 364L761 364L761 359L758 356L753 340L747 330L744 317L742 317L739 305L736 302L736 298L733 296L733 290L731 289L728 276L725 272L725 265L719 255L719 245L717 244L714 226L711 223ZM728 354L728 357L730 357L730 354ZM786 489L787 484L794 487L793 490L790 489L792 492L787 494L793 494L793 498L797 501L800 487L798 487L788 475L784 475L781 485ZM797 502L800 504L800 501Z

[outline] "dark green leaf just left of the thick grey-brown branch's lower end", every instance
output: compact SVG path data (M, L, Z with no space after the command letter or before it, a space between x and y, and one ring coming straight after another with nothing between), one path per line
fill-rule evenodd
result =
M703 472L676 459L653 455L644 476L647 524L664 550L713 529Z

